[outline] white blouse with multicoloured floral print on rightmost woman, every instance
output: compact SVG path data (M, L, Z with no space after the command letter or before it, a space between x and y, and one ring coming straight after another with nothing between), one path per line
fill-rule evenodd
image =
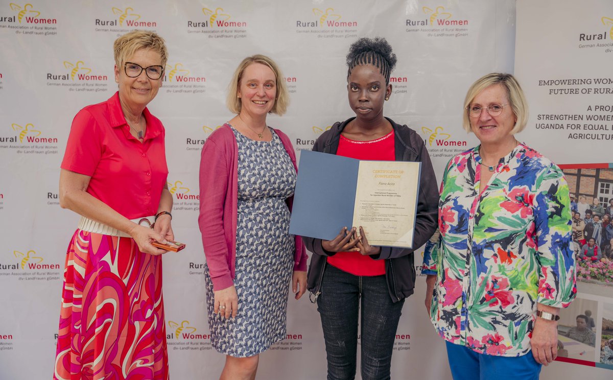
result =
M576 294L568 185L557 165L522 144L487 185L481 169L476 147L444 172L440 234L428 241L422 270L437 275L430 319L451 343L520 356L530 352L536 303L566 307Z

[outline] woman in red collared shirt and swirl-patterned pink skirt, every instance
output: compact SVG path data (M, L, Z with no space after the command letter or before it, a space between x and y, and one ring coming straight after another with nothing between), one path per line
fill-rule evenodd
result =
M66 255L53 379L168 378L162 256L173 240L164 126L147 109L168 59L154 32L115 40L109 100L70 127L59 203L82 216ZM150 228L155 223L154 228Z

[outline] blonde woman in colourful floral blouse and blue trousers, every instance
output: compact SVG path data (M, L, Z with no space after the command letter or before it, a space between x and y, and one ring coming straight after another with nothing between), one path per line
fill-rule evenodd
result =
M480 144L444 171L425 306L455 380L538 379L557 355L558 312L576 294L568 186L517 141L528 107L512 75L479 78L464 107Z

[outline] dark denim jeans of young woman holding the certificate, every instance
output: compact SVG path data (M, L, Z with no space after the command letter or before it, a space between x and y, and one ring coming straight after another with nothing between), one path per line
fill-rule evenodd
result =
M382 276L354 276L326 265L317 310L326 341L328 380L356 377L361 308L362 380L390 378L392 350L405 300L392 302Z

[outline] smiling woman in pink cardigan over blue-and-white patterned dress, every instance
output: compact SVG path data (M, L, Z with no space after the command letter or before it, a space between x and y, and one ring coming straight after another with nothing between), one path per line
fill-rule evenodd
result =
M288 101L272 59L243 59L227 97L237 116L202 148L198 223L211 343L226 354L221 379L255 378L260 352L286 336L289 282L296 299L306 290L307 253L289 234L294 148L266 124Z

